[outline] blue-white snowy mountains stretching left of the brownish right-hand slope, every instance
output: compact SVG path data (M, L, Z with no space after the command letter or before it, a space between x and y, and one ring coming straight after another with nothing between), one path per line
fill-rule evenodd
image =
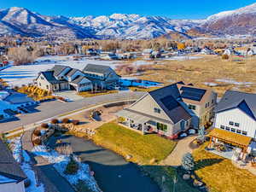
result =
M186 32L201 20L171 20L160 16L113 14L64 17L39 15L24 8L0 9L0 34L68 38L157 38Z

